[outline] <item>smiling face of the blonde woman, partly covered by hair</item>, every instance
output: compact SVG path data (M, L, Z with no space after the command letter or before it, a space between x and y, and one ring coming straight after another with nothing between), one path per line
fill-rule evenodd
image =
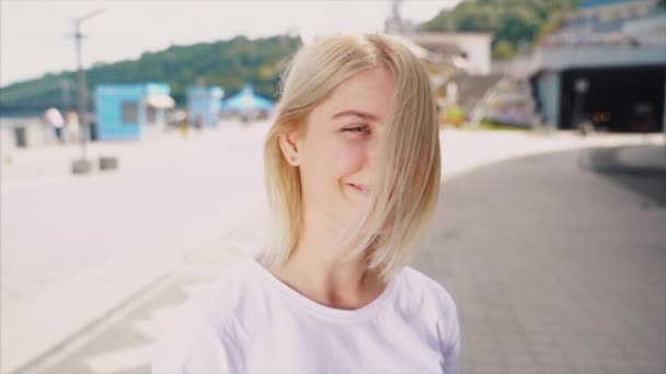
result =
M393 91L386 69L367 70L336 86L315 106L299 137L280 141L300 170L303 209L336 226L356 218L372 186L374 157Z

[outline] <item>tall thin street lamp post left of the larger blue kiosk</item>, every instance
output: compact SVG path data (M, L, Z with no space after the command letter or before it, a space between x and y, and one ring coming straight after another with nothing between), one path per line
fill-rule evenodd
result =
M82 17L73 19L74 23L74 45L77 48L77 69L79 74L79 128L81 129L81 160L74 161L72 165L72 172L74 174L88 174L90 172L90 163L87 160L88 138L90 136L90 128L88 124L88 90L85 86L85 73L83 71L83 62L81 59L81 23L93 16L104 12L103 9L97 9Z

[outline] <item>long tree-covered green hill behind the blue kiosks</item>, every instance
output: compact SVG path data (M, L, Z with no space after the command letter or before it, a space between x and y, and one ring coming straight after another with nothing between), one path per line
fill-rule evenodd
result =
M138 60L88 69L89 98L97 84L148 81L169 83L179 105L185 103L185 89L197 82L220 85L226 96L240 91L244 83L252 83L256 93L275 98L279 73L299 44L298 37L249 39L238 36L215 43L172 46L162 51L143 54ZM71 86L69 90L66 89L67 82ZM70 106L76 107L76 72L66 71L1 87L0 114L35 114L49 106L62 108L67 106L68 96Z

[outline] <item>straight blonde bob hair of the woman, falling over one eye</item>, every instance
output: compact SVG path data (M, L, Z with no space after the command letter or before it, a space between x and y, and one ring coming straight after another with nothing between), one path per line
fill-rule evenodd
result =
M389 115L383 119L374 163L370 203L346 230L335 250L364 256L368 269L389 280L416 253L439 194L437 108L425 67L405 46L378 34L335 35L302 46L282 80L277 118L264 144L269 242L265 266L284 264L302 230L299 168L287 162L279 138L302 132L312 109L342 82L369 69L393 78Z

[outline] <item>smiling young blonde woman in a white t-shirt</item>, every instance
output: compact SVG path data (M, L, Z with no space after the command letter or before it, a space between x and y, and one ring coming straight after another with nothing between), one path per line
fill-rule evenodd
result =
M153 373L456 373L456 305L406 266L439 190L422 62L381 35L302 47L264 157L271 241L187 303Z

